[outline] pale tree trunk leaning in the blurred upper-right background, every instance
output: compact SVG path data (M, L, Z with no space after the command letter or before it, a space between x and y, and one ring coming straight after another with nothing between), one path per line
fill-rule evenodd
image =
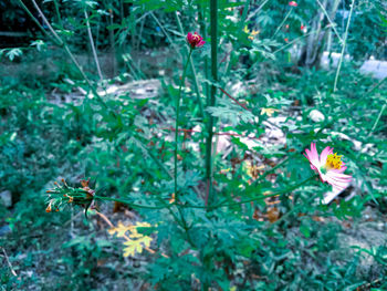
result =
M321 1L322 7L318 7L317 14L313 18L310 28L314 33L311 33L306 39L306 43L302 49L301 58L299 60L299 65L306 67L320 66L320 61L325 46L325 40L330 32L330 30L324 28L326 24L333 24L330 22L334 22L339 1L341 0Z

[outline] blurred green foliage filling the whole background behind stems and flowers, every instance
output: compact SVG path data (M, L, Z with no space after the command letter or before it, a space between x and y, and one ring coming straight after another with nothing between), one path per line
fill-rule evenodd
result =
M0 205L2 290L387 288L383 231L370 248L342 241L339 236L346 233L348 224L353 229L365 226L365 209L372 209L373 221L380 222L384 231L387 229L387 86L384 80L358 70L358 62L369 55L386 58L385 4L355 1L347 39L347 52L355 61L343 63L334 91L336 69L297 66L294 48L284 40L295 41L297 49L304 45L300 27L310 27L318 11L316 2L299 1L283 23L289 29L280 27L290 11L287 1L270 1L251 20L243 19L243 8L251 13L263 2L219 1L217 86L249 111L218 90L217 104L206 108L205 117L194 80L198 80L200 100L206 104L209 85L213 84L209 73L208 1L39 3L80 61L83 55L92 55L83 15L84 10L88 12L100 60L109 60L102 65L105 81L98 81L91 56L82 66L101 92L108 85L148 79L160 80L161 90L157 97L144 100L132 97L130 92L105 94L102 101L106 106L103 105L100 98L88 97L93 91L63 45L33 23L25 30L28 38L10 41L1 49L0 191L12 194L11 207ZM348 9L349 2L343 1L343 7ZM0 6L4 7L4 2L0 1ZM31 3L27 6L33 9ZM2 28L10 31L14 27L25 29L27 22L20 19L29 18L17 1L1 17ZM341 17L335 21L341 23ZM243 32L245 25L250 31L260 31L254 40ZM343 35L345 25L337 24L337 30ZM268 215L270 208L263 199L210 212L188 207L129 207L135 219L154 226L150 236L156 253L123 258L122 241L106 236L106 226L102 227L95 211L88 219L82 207L46 214L45 190L59 177L76 187L81 178L91 177L93 187L104 197L148 206L168 202L174 193L174 180L168 175L172 170L174 139L166 128L174 124L188 31L200 32L207 44L194 52L196 70L188 70L182 90L180 127L198 126L202 133L186 136L187 147L179 152L181 204L202 205L205 199L206 116L217 118L218 132L259 138L269 118L261 114L262 108L278 110L274 115L286 117L280 125L285 145L257 143L249 149L240 136L231 137L227 158L221 154L212 156L217 202L263 198L265 191L292 188L308 178L313 173L302 153L311 142L317 142L318 150L332 146L344 155L357 195L338 205L322 205L311 197L322 198L331 186L312 179L279 198L282 218L274 224L253 219L255 212ZM341 49L337 39L333 49ZM13 65L21 69L12 71ZM70 101L65 100L69 95ZM320 111L324 121L311 121L313 110ZM188 138L198 150L189 147ZM245 170L245 160L251 159L264 166L261 178L253 184ZM289 199L291 196L293 199ZM111 202L105 202L101 211L114 222L125 218L122 212L113 214ZM180 224L176 220L179 216L184 218ZM18 276L12 274L6 253ZM367 259L372 263L364 268Z

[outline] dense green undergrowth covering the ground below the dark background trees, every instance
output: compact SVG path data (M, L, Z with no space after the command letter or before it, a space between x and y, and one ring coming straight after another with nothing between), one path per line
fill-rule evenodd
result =
M159 2L148 4L158 9ZM254 27L230 18L243 18L243 11L220 2L219 80L209 72L209 37L192 53L195 70L188 66L182 77L177 191L175 102L188 49L177 20L166 18L174 12L157 14L165 27L156 22L157 33L172 41L151 35L153 22L144 24L147 45L140 46L144 54L137 52L143 63L125 66L118 58L118 76L100 82L100 97L63 59L48 67L54 73L46 77L1 77L0 191L12 196L11 206L0 205L3 290L387 288L386 83L360 74L351 62L343 63L338 80L336 69L299 66L283 41L302 35L299 29L275 32L270 23L282 18L268 10L255 37ZM138 14L153 11L138 7ZM282 15L290 11L283 10ZM305 21L307 9L302 11L290 14L291 25ZM201 12L198 21L209 22L209 8ZM198 27L195 15L182 17L184 31ZM127 37L124 24L116 24L117 43ZM209 23L205 28L203 35L210 33ZM269 40L273 32L279 37ZM169 45L167 58L155 43ZM29 58L24 53L18 58ZM86 75L97 80L91 71ZM160 80L157 96L103 94L113 85L153 77ZM217 103L209 106L211 85ZM210 205L217 206L210 209L205 205L209 116L216 128ZM344 156L353 176L346 189L351 199L322 202L332 186L313 176L303 156L313 142L318 150L331 146ZM92 207L87 199L75 206L69 198L59 211L54 205L45 211L46 190L63 187L66 193L64 183L81 188L80 180L87 178L83 189L101 198ZM279 195L266 198L273 194ZM372 215L366 217L365 209ZM349 230L374 227L379 232L368 245L345 239Z

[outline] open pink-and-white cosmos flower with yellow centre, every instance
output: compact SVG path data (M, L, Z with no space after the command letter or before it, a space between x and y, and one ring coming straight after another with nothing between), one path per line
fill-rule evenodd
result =
M311 149L305 149L304 156L311 163L311 168L320 175L322 181L333 186L333 189L344 190L348 187L352 176L343 174L347 168L342 162L342 156L333 154L332 147L325 147L318 156L316 144L311 144Z

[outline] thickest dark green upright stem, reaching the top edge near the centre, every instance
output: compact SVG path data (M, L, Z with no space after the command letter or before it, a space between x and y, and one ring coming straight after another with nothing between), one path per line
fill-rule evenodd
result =
M211 17L211 76L212 82L218 82L218 0L210 1L210 17ZM216 104L216 85L211 85L211 95L208 102L208 106L215 106ZM207 125L207 142L206 142L206 179L207 179L207 194L206 205L212 204L212 136L213 136L213 116L209 116Z

